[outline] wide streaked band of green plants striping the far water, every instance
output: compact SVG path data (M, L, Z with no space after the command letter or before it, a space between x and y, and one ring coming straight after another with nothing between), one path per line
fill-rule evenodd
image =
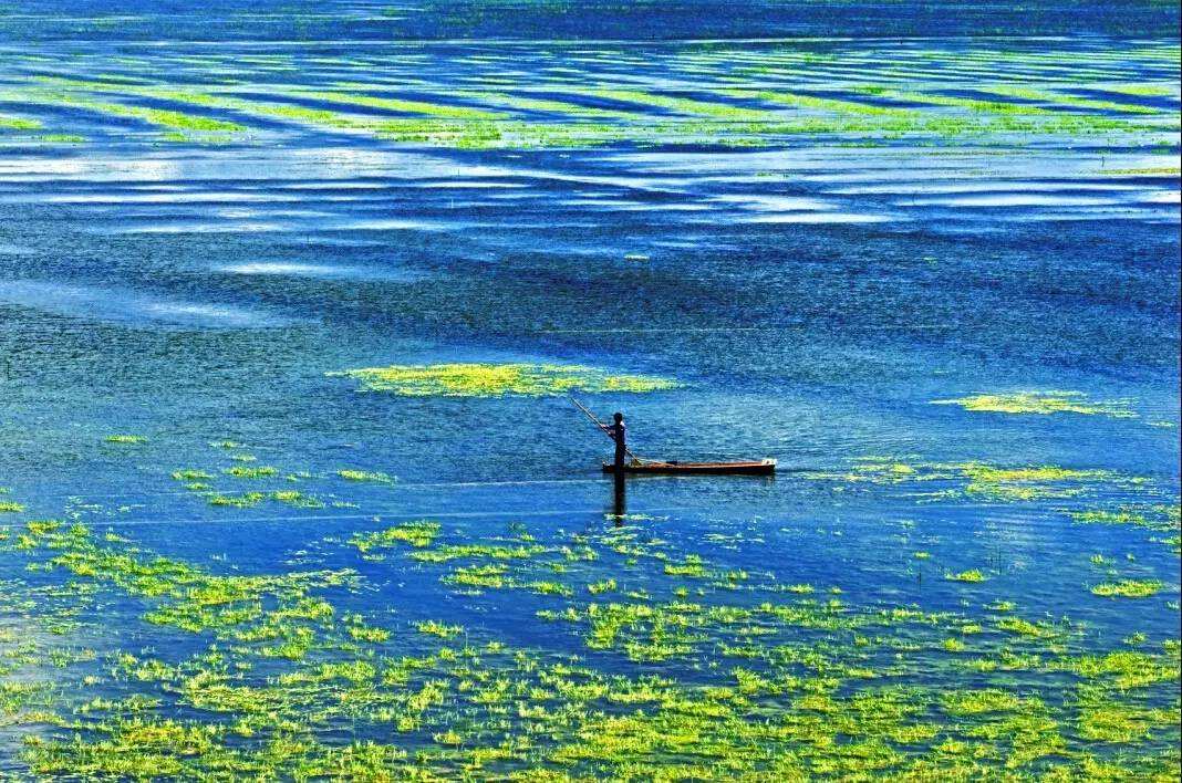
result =
M201 144L241 135L251 130L245 124L251 120L443 149L591 149L619 143L747 148L781 145L801 136L860 146L885 146L903 137L926 145L968 138L1014 146L1034 135L1065 139L1102 135L1105 142L1136 148L1158 139L1170 143L1163 137L1176 132L1178 125L1170 107L1122 99L1173 97L1176 92L1170 91L1176 87L1162 76L1145 84L1125 84L1130 74L1113 72L1111 61L1051 63L1002 50L957 56L878 51L873 61L864 52L777 51L764 44L756 50L651 53L670 74L660 85L624 76L621 68L635 63L618 52L580 52L570 63L550 65L544 72L532 58L509 63L498 54L466 56L456 60L463 64L465 74L442 80L431 76L431 68L421 67L424 60L420 54L410 52L397 59L405 58L414 72L400 73L396 79L382 73L387 63L378 65L364 53L305 53L299 60L174 53L169 61L186 72L180 80L162 79L158 68L142 77L99 70L91 79L34 76L9 92L17 105L50 104L130 117L163 128L165 141ZM1066 52L1056 54L1069 57ZM1125 56L1135 70L1168 61L1148 48L1130 50ZM753 65L752 58L765 61ZM896 64L888 66L885 61ZM1031 84L1032 72L1061 68L1065 61L1074 68L1070 77L1046 74L1045 87ZM999 65L1021 72L1007 73ZM143 70L145 63L131 61L128 67ZM329 68L332 76L312 81L293 79L301 67ZM816 71L818 67L834 71ZM859 83L870 71L882 79ZM949 73L973 74L985 94L948 94L952 85L944 79ZM937 81L926 78L935 74ZM1071 83L1085 78L1109 97L1076 94L1078 84ZM820 86L819 79L830 84ZM401 94L408 86L414 93ZM817 92L824 94L810 94ZM591 105L604 100L618 106ZM151 107L156 102L195 106L200 112ZM220 118L223 112L236 122ZM38 122L5 117L0 118L0 131L5 120L15 123L17 130Z

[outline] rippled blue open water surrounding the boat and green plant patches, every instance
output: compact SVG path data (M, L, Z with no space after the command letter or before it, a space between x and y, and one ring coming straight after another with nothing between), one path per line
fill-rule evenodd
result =
M563 543L610 535L613 513L626 510L636 515L628 529L675 559L839 586L851 606L975 618L1007 600L1030 619L1084 624L1073 653L1121 650L1135 632L1160 648L1177 638L1176 550L1144 529L1080 524L1072 513L1177 505L1177 8L904 6L9 6L0 116L43 129L0 128L0 487L11 490L0 501L25 507L0 522L15 530L77 518L215 573L353 568L364 587L332 600L400 634L436 619L481 641L687 683L704 677L695 664L713 653L658 665L589 652L569 628L537 620L561 600L457 595L437 568L366 561L344 542L430 518L452 543L507 535L513 523ZM71 89L61 79L105 80L108 92L72 87L92 102L248 130L169 141L143 117L47 97ZM632 119L609 143L461 149L110 92L148 85L342 110L284 92L340 83L456 106L485 105L465 90L511 85L518 97ZM790 132L730 146L645 135L676 106L572 93L603 86L764 106L758 96L720 97L739 85L873 106L858 89L996 99L998 84L1139 106L1059 111L1151 117L1160 129L873 143ZM1119 92L1128 84L1154 90ZM610 444L561 396L403 397L326 374L442 363L674 379L674 390L585 402L602 416L623 410L642 456L774 457L781 470L774 479L637 478L619 509L598 468ZM1020 391L1076 392L1126 415L933 404ZM104 441L119 433L145 442ZM209 445L220 441L303 476L259 487L298 484L324 505L220 508L170 478L200 469L219 490L254 488L221 475L232 463ZM967 492L963 477L840 477L866 458L921 472L966 463L1104 472L1014 500ZM397 481L350 482L340 469ZM1089 563L1096 554L1116 561L1113 579L1156 580L1161 592L1093 595L1104 573ZM66 580L60 569L28 576L24 553L0 557L5 580ZM608 560L579 568L587 580L626 573ZM966 569L988 579L943 578ZM668 587L658 572L636 581ZM142 600L116 592L79 609L85 622L65 642L106 652L208 642L144 624ZM9 609L5 626L19 615ZM417 642L391 642L394 654L400 644L410 652ZM900 680L931 684L917 671ZM1028 674L1025 686L1056 683ZM1145 698L1176 709L1168 689ZM1163 748L1176 748L1176 732L1124 750ZM11 753L6 768L27 771Z

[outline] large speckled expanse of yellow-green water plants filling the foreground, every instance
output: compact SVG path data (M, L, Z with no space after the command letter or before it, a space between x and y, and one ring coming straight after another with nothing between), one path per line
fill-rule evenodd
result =
M125 606L121 638L136 645L33 655L0 628L0 718L33 729L14 774L1173 779L1176 640L1111 652L1103 626L1026 620L995 595L927 611L798 572L739 578L723 559L762 539L719 536L728 546L707 560L656 524L577 528L476 526L440 543L439 523L417 520L310 547L389 554L369 582L204 567L70 522L13 526L0 550L76 587L6 581L6 607L60 606L63 624ZM377 590L436 580L465 588L456 601L478 616L525 609L525 625L543 607L547 629L522 628L530 646L518 646L515 632L460 625L427 601L398 602L410 633L358 609ZM479 592L501 587L519 592ZM52 667L44 685L20 668L33 658Z

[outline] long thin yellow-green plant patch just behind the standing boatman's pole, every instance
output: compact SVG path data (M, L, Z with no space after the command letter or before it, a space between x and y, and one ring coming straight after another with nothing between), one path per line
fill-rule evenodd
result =
M678 385L663 378L552 364L391 365L327 374L353 378L364 391L405 397L546 397L573 391L651 392Z

